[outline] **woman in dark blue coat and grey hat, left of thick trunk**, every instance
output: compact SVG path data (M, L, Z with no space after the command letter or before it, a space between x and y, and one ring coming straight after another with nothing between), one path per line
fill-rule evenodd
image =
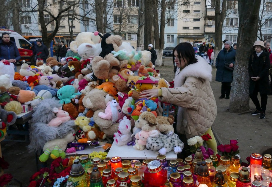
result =
M233 67L235 64L235 55L236 51L231 46L231 41L226 41L224 45L224 49L222 49L217 57L216 57L216 78L215 80L218 82L222 82L221 85L221 96L219 99L229 99L230 89L231 89L231 82L232 82L232 73L233 71L228 70L225 68L225 63L229 63L229 67Z

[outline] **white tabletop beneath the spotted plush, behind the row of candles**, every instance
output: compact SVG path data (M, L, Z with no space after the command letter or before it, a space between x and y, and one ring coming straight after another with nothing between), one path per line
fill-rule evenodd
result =
M120 156L122 159L144 160L144 159L156 159L156 157L158 156L157 153L147 149L140 151L138 149L134 149L132 146L127 145L117 146L116 142L114 141L107 157L112 158L114 156ZM177 159L177 154L175 154L174 151L170 151L165 156L167 160Z

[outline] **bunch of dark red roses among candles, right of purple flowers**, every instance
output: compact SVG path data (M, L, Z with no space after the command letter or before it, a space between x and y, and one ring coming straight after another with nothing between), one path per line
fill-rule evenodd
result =
M230 140L229 144L221 144L219 146L217 146L218 151L222 152L222 156L228 156L231 157L233 155L236 155L240 158L240 156L238 155L238 153L240 151L238 151L238 141L237 140Z

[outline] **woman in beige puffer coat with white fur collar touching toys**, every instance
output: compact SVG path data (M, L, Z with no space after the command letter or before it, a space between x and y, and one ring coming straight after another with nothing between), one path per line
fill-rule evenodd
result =
M216 118L217 106L210 86L212 67L195 55L190 43L180 43L173 50L174 88L144 90L148 99L159 97L163 102L179 106L177 132L186 138L210 134L207 146L217 153L211 126Z

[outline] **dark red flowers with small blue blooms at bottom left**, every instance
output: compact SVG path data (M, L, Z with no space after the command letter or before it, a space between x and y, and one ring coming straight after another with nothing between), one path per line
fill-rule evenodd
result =
M58 181L56 186L62 182L65 183L68 178L67 175L69 176L71 171L71 167L68 166L69 160L69 158L62 159L59 157L51 163L50 168L41 168L30 178L29 187L53 186L56 181Z

